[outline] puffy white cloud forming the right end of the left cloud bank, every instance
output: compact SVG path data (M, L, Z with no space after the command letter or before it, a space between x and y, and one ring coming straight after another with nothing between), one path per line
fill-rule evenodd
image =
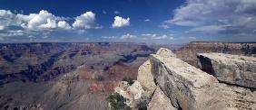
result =
M77 16L74 23L72 24L74 28L78 29L92 29L95 26L95 14L93 12L86 12Z

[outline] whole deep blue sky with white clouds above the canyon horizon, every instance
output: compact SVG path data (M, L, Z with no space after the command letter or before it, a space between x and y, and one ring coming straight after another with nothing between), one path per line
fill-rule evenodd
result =
M256 41L256 0L1 0L0 42Z

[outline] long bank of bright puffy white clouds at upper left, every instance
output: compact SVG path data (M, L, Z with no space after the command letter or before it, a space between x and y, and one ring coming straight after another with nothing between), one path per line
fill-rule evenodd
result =
M55 16L45 10L38 14L13 14L11 11L0 10L0 24L16 25L25 30L59 30L59 29L99 29L102 26L95 23L95 14L86 12L75 17L72 26L65 20L69 18Z

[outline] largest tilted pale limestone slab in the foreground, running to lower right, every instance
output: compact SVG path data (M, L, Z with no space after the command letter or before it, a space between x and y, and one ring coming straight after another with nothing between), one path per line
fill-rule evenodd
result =
M177 109L256 109L255 91L220 83L212 75L173 55L152 54L150 63L155 85L161 88L162 93L169 97L172 106ZM148 108L152 108L155 103L162 103L164 97L158 97L160 99L151 100Z

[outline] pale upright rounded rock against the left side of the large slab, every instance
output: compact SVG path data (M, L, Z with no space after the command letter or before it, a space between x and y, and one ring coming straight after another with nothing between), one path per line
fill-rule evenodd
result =
M155 84L153 81L153 75L151 73L151 63L150 60L147 60L140 66L138 69L137 80L143 86L143 89L147 92L147 96L152 96L155 89Z

